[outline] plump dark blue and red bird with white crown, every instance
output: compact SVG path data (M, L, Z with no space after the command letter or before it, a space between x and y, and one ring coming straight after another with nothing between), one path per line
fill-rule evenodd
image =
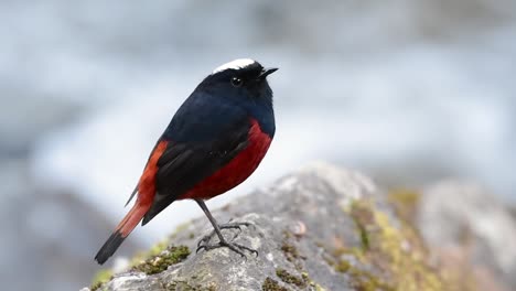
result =
M95 260L105 263L138 226L148 224L174 201L193 200L213 231L197 244L200 250L216 248L246 257L255 249L228 241L222 229L248 223L218 224L205 201L239 185L258 168L276 132L272 89L264 67L251 58L237 58L216 67L180 106L152 149L126 206L136 202ZM216 235L218 244L209 245Z

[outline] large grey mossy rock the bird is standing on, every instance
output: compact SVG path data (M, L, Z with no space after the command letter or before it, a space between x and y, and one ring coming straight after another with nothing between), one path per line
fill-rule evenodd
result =
M201 217L83 290L474 290L473 277L448 276L394 197L359 173L312 165L214 212L251 223L223 231L257 257L195 254L212 229Z

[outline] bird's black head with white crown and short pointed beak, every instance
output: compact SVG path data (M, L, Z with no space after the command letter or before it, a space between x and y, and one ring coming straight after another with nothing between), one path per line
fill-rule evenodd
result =
M277 68L264 68L250 58L238 58L213 71L197 87L217 98L249 106L266 106L272 109L272 90L267 76Z

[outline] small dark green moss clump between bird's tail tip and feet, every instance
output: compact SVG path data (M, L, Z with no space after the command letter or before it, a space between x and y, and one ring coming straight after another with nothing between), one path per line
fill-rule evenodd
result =
M190 256L190 249L186 246L168 247L158 255L150 256L144 261L132 267L133 270L147 274L160 273L171 265L183 261Z

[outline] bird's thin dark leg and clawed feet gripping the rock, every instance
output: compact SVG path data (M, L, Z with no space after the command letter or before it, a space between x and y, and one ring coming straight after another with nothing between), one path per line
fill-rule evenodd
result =
M243 245L239 245L239 244L236 244L236 242L228 242L224 238L224 236L222 235L222 231L221 231L221 229L227 229L227 228L240 229L241 225L249 226L250 225L249 223L232 223L232 224L218 225L217 220L215 220L215 218L213 218L212 214L209 213L208 208L206 207L206 204L204 204L204 201L196 200L196 202L197 202L198 206L201 206L201 208L203 209L204 214L206 214L206 217L209 219L209 223L212 223L213 229L214 229L209 235L203 237L198 241L196 252L198 252L201 249L204 249L204 250L207 251L207 250L225 247L225 248L228 248L228 249L235 251L236 254L238 254L238 255L240 255L243 257L246 257L246 255L244 255L243 250L254 252L254 254L256 254L256 256L258 256L258 251L255 250L255 249L251 249L249 247L246 247L246 246L243 246ZM212 239L213 235L215 235L215 234L218 236L218 240L219 240L218 244L208 245L209 240Z

